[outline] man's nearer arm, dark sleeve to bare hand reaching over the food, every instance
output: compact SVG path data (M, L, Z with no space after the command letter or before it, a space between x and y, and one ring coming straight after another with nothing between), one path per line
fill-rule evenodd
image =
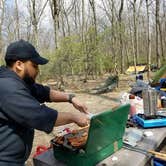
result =
M12 119L13 122L46 133L50 133L54 126L71 122L79 126L86 126L89 122L88 117L83 113L57 112L44 104L40 104L24 90L6 95L2 100L1 108L2 113Z

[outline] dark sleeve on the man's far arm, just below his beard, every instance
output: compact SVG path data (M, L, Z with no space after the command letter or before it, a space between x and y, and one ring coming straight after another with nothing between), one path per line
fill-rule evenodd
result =
M50 102L50 88L41 84L33 84L30 86L30 91L40 103Z

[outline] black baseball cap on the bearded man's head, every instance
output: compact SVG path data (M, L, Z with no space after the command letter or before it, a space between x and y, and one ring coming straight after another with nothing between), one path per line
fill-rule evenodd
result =
M23 39L7 47L5 60L30 60L38 65L48 63L48 59L41 57L35 47Z

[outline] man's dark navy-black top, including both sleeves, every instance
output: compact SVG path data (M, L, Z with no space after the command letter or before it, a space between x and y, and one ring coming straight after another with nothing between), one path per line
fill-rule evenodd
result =
M34 129L50 133L57 111L42 104L50 89L27 86L16 73L0 68L0 163L24 164L29 157Z

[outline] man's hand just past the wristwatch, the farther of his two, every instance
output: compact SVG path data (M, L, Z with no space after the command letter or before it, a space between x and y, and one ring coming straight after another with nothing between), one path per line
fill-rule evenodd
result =
M85 104L81 103L76 97L72 98L72 104L80 112L88 114L88 111L87 111L88 109L85 106Z

